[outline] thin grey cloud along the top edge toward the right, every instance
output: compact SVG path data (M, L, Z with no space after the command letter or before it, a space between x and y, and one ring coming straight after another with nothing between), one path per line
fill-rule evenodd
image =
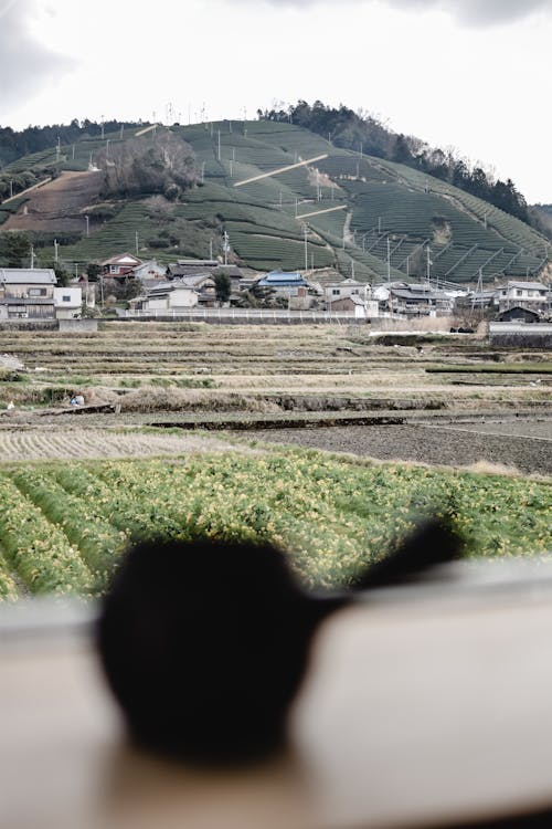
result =
M368 6L375 0L350 0ZM258 0L233 0L233 2L248 3ZM275 7L307 8L312 6L338 6L342 0L265 0ZM455 17L465 25L492 25L510 23L527 18L537 11L552 12L552 0L379 0L382 4L394 9L425 11L435 9Z

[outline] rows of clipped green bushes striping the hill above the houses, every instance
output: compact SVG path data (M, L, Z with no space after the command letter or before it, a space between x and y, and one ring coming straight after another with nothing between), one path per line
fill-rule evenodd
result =
M46 162L63 169L86 169L91 157L94 160L105 155L107 140L115 146L134 137L135 132L128 130L123 139L120 134L113 134L104 140L94 138L62 147L61 160L55 148L35 154L19 159L10 169L38 169ZM361 279L385 279L386 235L404 238L391 259L392 279L406 277L406 258L424 240L437 249L434 275L454 282L476 281L479 269L486 280L502 274L534 279L548 256L543 237L487 202L408 167L333 147L321 136L291 124L223 120L173 127L172 132L193 148L201 179L201 186L188 191L183 202L164 206L161 221L178 243L170 250L159 243L156 234L160 228L148 210L148 199L127 201L104 224L93 221L89 238L63 248L64 260L86 262L134 251L137 234L144 259L204 258L211 242L215 251L221 250L226 231L232 250L245 264L266 270L300 269L305 255L296 217L339 206L347 209L307 221L319 237L312 240L310 252L316 266L337 265L343 275L354 270ZM153 143L156 130L144 140ZM319 155L327 157L308 168L241 185ZM174 219L180 221L178 228L172 225ZM445 228L445 239L439 237L439 227ZM365 238L374 231L383 244L378 244L378 239L373 246L373 240L367 244ZM350 239L353 232L355 238Z

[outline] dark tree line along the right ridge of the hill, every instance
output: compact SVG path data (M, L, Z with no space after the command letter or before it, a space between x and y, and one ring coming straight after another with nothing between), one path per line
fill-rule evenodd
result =
M429 147L414 136L396 134L374 115L353 112L342 104L339 108L316 101L306 101L287 108L257 109L257 116L267 120L296 124L328 138L337 147L362 151L388 161L396 161L489 201L495 207L531 224L531 214L523 195L513 181L495 180L479 166L470 167L453 150Z

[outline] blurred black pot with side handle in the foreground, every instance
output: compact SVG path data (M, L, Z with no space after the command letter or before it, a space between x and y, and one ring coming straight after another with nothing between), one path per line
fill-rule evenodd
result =
M458 555L427 526L358 587L383 587ZM351 594L307 594L270 545L148 542L104 600L98 643L134 739L194 763L243 763L283 746L318 625Z

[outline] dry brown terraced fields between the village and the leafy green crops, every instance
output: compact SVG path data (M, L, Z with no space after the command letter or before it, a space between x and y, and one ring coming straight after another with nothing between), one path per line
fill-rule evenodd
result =
M285 429L282 436L270 430L258 437L428 463L485 460L551 474L552 421L545 420L552 413L550 354L490 349L476 337L386 336L374 342L365 332L363 326L120 322L100 323L97 334L0 330L0 355L24 366L17 377L0 369L0 457L198 451L197 436L113 431L148 424L153 413L159 420L170 412L178 421L179 412L245 417L297 411L298 417L336 408L428 407L450 418L524 412L544 419L543 433L485 437L449 424L448 431L347 427ZM86 403L116 403L120 414L60 417L75 393ZM2 413L10 401L15 408ZM223 440L221 448L225 445Z

